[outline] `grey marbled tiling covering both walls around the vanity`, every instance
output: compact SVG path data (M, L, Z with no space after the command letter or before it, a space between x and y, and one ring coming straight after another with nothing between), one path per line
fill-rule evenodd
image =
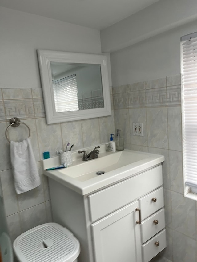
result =
M195 262L196 202L183 197L180 76L127 84L112 90L112 116L46 125L40 88L0 89L0 178L11 239L52 221L48 181L41 174L42 153L50 151L54 156L68 141L75 144L75 150L105 143L109 134L119 128L126 148L165 156L167 248L159 261ZM19 195L14 190L9 143L5 138L9 119L14 116L30 126L31 143L42 177L41 186ZM132 134L132 123L143 123L143 137ZM11 140L19 141L28 132L20 125L10 127L9 135Z

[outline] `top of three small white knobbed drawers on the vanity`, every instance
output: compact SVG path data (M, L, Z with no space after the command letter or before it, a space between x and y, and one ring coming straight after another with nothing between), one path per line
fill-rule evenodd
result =
M141 209L141 220L155 213L164 206L163 187L151 192L145 197L140 198L139 204Z

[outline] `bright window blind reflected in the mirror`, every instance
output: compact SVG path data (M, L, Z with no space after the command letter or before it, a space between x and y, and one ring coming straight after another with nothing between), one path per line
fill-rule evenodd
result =
M56 112L79 110L76 74L54 81L53 91Z

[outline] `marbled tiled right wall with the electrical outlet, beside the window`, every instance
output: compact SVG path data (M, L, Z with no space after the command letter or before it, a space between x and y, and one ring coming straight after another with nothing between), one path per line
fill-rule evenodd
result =
M197 261L196 201L183 197L180 75L113 87L113 100L125 147L165 156L167 248L159 261ZM143 137L133 123L143 123Z

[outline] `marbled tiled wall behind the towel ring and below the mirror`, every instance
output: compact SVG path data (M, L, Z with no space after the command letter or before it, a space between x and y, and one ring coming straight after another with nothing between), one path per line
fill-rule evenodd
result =
M5 138L12 117L30 126L30 140L42 178L42 185L19 195L14 190L9 143ZM113 110L111 116L46 125L41 88L0 88L0 179L12 240L34 226L52 221L48 181L42 175L42 153L50 151L54 156L57 150L65 149L67 142L75 145L74 150L105 143L114 131ZM28 130L22 124L10 127L9 136L10 140L22 141L28 136Z

